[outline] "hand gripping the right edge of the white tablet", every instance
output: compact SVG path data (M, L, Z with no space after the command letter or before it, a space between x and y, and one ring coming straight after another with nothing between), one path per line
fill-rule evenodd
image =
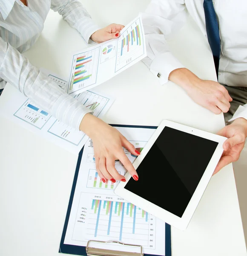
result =
M218 135L227 137L228 140L223 144L224 152L213 174L217 173L227 164L238 160L247 137L247 120L237 118L231 125L227 125L219 131Z

